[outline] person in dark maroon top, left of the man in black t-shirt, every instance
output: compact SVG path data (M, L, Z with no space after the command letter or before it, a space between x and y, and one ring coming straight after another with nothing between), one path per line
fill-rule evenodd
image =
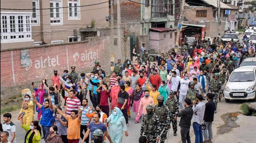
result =
M100 106L102 107L102 112L109 116L108 97L110 92L108 91L107 83L102 83L101 81L100 86L96 89L96 92L101 94Z

